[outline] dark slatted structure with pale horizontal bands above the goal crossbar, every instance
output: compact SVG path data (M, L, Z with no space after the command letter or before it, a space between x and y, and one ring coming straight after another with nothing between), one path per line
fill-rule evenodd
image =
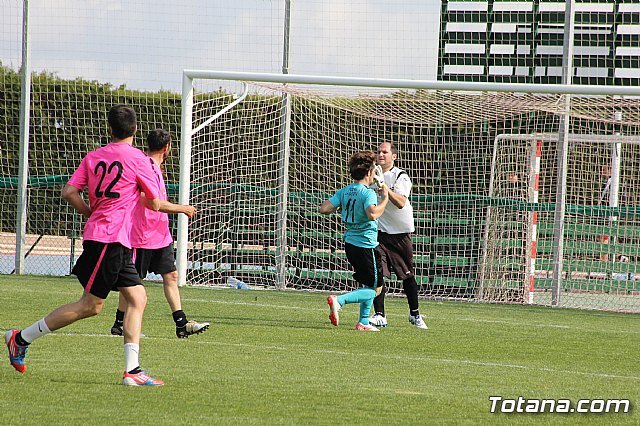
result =
M562 83L563 1L442 0L438 79ZM640 85L640 2L576 0L573 84Z

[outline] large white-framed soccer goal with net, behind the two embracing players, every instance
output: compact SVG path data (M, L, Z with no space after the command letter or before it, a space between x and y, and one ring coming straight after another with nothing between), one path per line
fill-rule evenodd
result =
M354 151L393 142L421 296L640 311L640 102L598 90L186 70L180 202L198 213L179 219L182 284L352 288L339 217L318 206Z

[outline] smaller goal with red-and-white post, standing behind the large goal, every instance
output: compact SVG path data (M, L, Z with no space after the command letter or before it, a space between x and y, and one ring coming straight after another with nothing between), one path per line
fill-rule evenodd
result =
M569 134L567 139L567 214L557 223L559 135L495 138L479 290L567 307L606 309L611 299L620 298L636 309L640 265L634 206L640 138L615 132ZM554 241L559 237L561 258ZM563 266L554 280L558 260ZM555 301L554 290L560 294Z

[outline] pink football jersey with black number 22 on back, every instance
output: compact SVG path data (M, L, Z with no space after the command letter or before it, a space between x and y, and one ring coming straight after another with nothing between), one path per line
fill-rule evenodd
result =
M82 159L69 185L87 189L91 216L84 227L85 240L131 248L132 216L140 191L150 199L160 195L152 163L126 142L112 142Z

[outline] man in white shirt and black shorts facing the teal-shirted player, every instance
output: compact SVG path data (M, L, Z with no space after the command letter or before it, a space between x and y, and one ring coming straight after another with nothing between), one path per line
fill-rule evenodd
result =
M391 271L402 280L402 288L409 303L409 322L417 328L426 330L418 308L418 283L413 266L413 242L411 234L415 231L413 208L409 202L411 179L407 173L395 167L398 150L393 143L384 142L378 147L377 161L382 167L385 184L389 187L389 203L378 219L378 243L383 254L384 275L391 277ZM384 312L386 288L373 300L375 314L369 322L386 327L388 322Z

